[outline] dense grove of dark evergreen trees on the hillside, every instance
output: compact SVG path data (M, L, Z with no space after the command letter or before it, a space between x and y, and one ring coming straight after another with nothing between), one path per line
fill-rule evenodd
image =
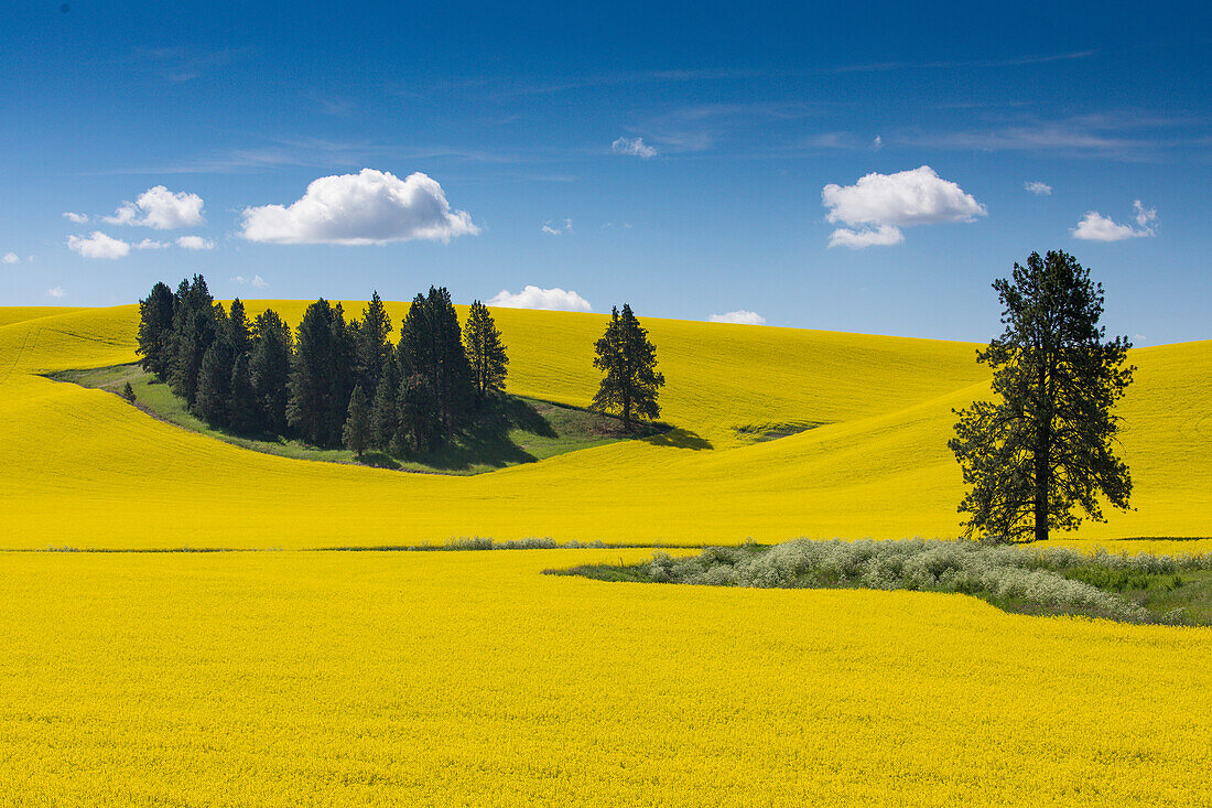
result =
M318 300L295 332L271 309L250 323L239 298L224 311L201 275L176 292L158 283L139 301L143 369L215 427L359 455L425 454L504 389L509 358L479 301L464 332L450 292L430 286L413 298L396 345L391 334L378 292L361 319Z

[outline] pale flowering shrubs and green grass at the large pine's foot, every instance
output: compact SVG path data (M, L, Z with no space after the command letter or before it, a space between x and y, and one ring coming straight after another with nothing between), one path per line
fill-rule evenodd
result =
M960 592L1023 614L1212 625L1212 553L1113 556L938 539L800 539L772 547L708 547L685 558L656 553L641 564L547 571L601 581Z

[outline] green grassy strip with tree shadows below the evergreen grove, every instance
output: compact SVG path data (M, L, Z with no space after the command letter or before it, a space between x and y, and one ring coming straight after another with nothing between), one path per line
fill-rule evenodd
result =
M188 412L184 402L167 385L144 372L138 364L64 370L50 374L48 377L104 389L116 396L122 396L126 385L130 385L135 406L153 417L244 449L298 460L359 463L411 472L479 474L545 460L567 451L631 438L648 438L669 429L662 423L635 422L633 431L627 432L623 422L612 415L532 398L501 396L490 399L471 423L434 451L421 456L367 451L356 457L348 449L320 449L297 439L247 436L210 426Z

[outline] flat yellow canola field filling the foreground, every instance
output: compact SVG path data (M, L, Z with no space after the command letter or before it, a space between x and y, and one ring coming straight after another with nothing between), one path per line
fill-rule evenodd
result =
M604 584L646 551L10 553L7 806L1199 806L1212 631Z

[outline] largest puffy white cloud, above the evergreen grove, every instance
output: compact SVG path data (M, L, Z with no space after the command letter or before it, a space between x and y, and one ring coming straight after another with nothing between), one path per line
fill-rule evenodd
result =
M320 177L284 205L244 211L241 235L269 244L450 241L480 232L467 211L451 210L438 182L419 171L400 180L373 169Z

